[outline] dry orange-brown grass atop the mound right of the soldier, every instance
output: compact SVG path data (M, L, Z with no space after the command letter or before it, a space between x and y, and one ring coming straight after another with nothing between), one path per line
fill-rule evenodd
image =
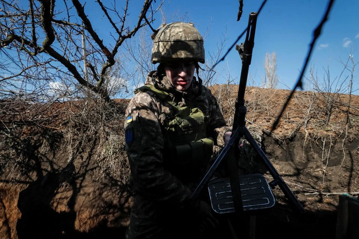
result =
M211 91L222 107L225 119L232 124L238 86L215 85L211 87ZM248 127L255 125L261 130L270 130L288 95L288 90L247 87L245 100ZM293 138L298 132L304 134L331 133L336 136L345 134L348 101L349 95L338 94L330 103L331 115L328 117L327 101L322 93L297 91L274 133L288 138ZM359 96L352 96L350 119L353 128L348 129L348 134L353 135L359 129Z

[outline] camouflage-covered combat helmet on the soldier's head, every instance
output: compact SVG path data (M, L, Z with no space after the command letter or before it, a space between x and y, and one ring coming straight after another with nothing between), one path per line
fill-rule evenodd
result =
M176 59L204 63L203 38L193 23L169 23L153 36L153 64Z

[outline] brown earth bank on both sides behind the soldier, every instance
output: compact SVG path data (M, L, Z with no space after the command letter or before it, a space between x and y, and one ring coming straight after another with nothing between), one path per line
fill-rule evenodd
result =
M229 124L237 87L210 87ZM339 200L335 193L359 192L359 96L350 99L349 125L348 95L296 92L270 134L288 95L286 90L248 87L247 128L306 213L299 215L277 186L276 205L257 215L256 238L334 238ZM19 104L5 103L1 107L6 112L29 114ZM68 118L66 112L74 116L88 109L81 101L38 107L41 119L51 115L51 120L31 121L36 124L16 123L29 119L13 116L20 114L0 114L6 124L0 130L0 238L125 238L131 209L122 129L127 103L115 100L116 115L106 115L107 123L95 130L92 111L81 116L85 120ZM83 126L84 122L90 123ZM271 181L264 164L244 143L241 169Z

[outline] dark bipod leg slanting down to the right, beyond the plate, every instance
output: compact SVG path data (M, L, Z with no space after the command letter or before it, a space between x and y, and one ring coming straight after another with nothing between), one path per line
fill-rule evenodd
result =
M283 178L279 175L278 171L274 168L274 166L271 164L269 159L267 158L266 154L263 152L261 147L257 144L256 140L253 139L251 133L248 131L247 128L243 128L244 137L250 142L252 147L257 151L260 158L265 163L265 166L269 173L273 177L273 181L269 183L269 185L274 188L276 185L280 187L280 189L283 191L286 198L289 200L289 202L300 212L303 213L304 209L302 205L300 205L300 202L298 201L297 197L294 196L293 192L290 191L288 185L284 182Z

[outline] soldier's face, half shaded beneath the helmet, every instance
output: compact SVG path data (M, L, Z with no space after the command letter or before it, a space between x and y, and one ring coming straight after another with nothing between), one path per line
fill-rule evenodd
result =
M195 68L193 61L178 61L166 63L164 71L174 88L179 91L186 91L191 85Z

